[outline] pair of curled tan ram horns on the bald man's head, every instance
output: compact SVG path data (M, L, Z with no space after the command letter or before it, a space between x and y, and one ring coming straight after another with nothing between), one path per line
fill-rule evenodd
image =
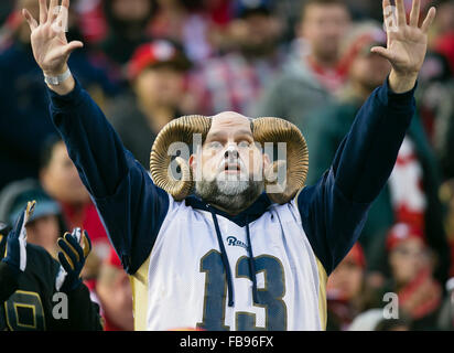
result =
M193 145L195 133L199 133L201 142L208 135L212 126L212 118L206 116L184 116L170 121L160 131L154 140L151 157L150 172L153 182L159 188L170 193L176 201L184 200L194 189L194 178L188 161L179 156L174 158L174 165L180 168L180 178L174 178L172 168L173 161L172 147L174 143ZM266 192L269 199L279 204L289 202L304 186L307 175L309 154L307 146L301 131L293 124L273 117L262 117L253 119L251 122L252 135L256 142L263 146L264 142L285 142L287 161L274 161L264 171ZM278 192L269 192L267 188L277 184L277 179L272 180L269 175L285 167L285 178L279 183Z

